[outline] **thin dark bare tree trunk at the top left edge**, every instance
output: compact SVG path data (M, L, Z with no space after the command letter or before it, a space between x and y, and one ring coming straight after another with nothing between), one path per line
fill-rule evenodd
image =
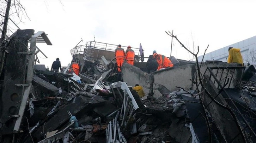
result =
M7 25L8 25L8 19L9 19L9 12L10 12L10 7L11 7L11 2L12 0L8 0L7 6L6 6L6 11L5 11L5 20L4 20L4 26L2 29L2 35L0 39L0 75L2 74L2 69L4 67L4 60L5 60L5 35L7 32Z

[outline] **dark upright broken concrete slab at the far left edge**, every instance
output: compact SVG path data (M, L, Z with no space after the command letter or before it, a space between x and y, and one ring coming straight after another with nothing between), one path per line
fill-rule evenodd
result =
M33 29L17 30L8 43L9 54L5 63L4 85L1 87L1 134L11 134L20 110L25 84L28 40L35 31ZM22 107L25 109L25 107Z

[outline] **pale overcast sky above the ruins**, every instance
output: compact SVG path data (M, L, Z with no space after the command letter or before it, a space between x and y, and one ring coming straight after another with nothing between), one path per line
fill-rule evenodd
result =
M231 45L256 35L256 1L39 1L21 0L29 19L19 23L21 29L34 29L48 34L53 46L38 47L48 56L39 55L46 67L57 58L62 66L72 60L70 50L83 38L86 41L138 47L145 56L157 53L170 56L174 35L193 49L200 46L201 54ZM193 40L192 40L193 39ZM177 41L172 55L191 60Z

